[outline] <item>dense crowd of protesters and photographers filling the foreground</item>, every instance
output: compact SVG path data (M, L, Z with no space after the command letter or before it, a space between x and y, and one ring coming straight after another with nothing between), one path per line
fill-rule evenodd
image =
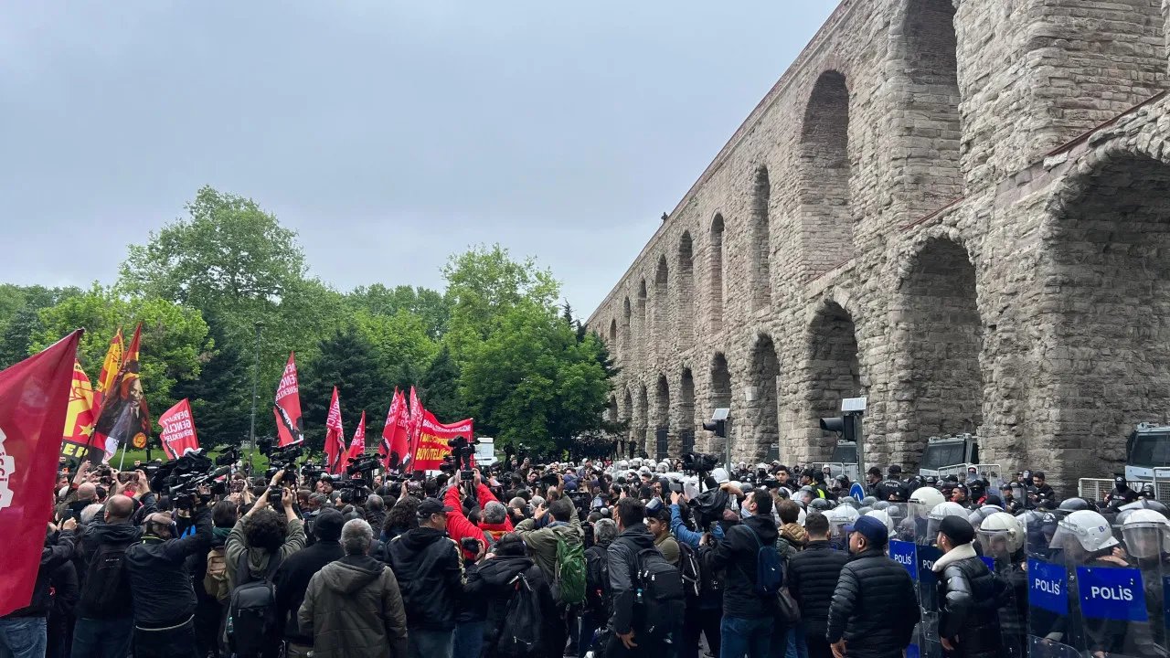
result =
M1024 537L1055 547L1065 519L1152 495L1122 479L1104 501L1060 501L1042 473L985 475L872 468L859 500L842 474L779 462L511 459L238 472L170 495L145 469L83 464L60 474L0 656L1023 656ZM930 591L897 542L937 551Z

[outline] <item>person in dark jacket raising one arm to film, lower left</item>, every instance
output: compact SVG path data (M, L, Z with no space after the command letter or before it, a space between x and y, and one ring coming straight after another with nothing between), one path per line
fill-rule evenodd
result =
M186 560L207 553L212 543L212 513L204 501L211 493L195 496L195 533L178 539L170 514L156 512L146 518L143 541L126 549L125 571L135 611L135 658L198 658L193 617L195 591Z

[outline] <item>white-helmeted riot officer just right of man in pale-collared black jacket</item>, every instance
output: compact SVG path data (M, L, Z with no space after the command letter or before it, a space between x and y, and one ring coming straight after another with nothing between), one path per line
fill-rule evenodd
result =
M1011 514L998 512L983 520L976 534L980 558L1005 585L998 602L1003 656L1024 658L1027 652L1027 573L1024 525Z

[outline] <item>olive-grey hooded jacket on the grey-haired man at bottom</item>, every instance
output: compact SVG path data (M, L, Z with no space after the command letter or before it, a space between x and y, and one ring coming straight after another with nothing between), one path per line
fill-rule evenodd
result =
M406 658L398 580L369 555L346 555L314 574L297 618L316 658Z

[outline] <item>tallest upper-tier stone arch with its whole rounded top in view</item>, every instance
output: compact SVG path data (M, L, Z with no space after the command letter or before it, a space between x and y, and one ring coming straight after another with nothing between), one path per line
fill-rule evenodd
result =
M853 256L852 172L849 90L844 74L827 70L813 85L800 130L800 247L810 274Z

